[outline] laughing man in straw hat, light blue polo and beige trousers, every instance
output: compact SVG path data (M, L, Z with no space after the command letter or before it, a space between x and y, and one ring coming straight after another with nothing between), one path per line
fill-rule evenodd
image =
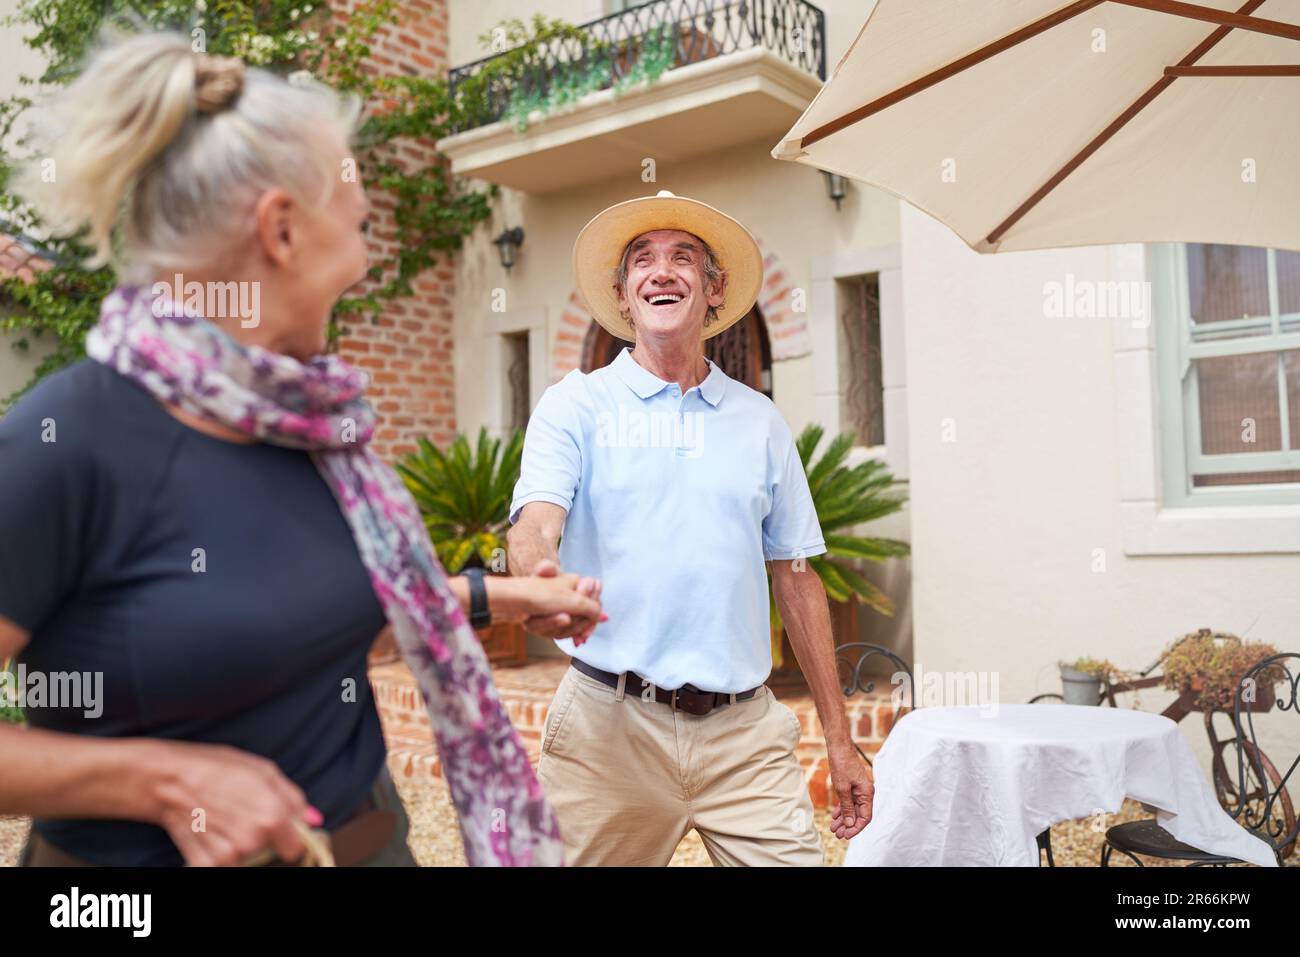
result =
M871 819L872 783L826 592L802 562L826 545L789 426L703 348L754 304L758 243L663 190L595 216L573 261L593 317L634 348L546 390L508 537L514 573L599 580L608 614L599 631L538 623L575 633L558 642L572 667L538 768L569 863L666 865L694 827L715 865L820 865L798 719L763 684L764 560L826 728L832 830L848 839Z

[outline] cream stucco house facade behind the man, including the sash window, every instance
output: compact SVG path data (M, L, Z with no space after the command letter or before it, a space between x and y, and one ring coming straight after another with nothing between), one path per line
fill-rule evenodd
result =
M682 49L706 33L710 56L679 52L656 82L589 94L523 131L503 121L442 143L455 169L502 186L497 220L456 272L463 426L523 425L549 384L607 356L573 293L573 239L606 205L668 189L759 239L758 381L792 428L853 429L855 454L884 458L907 485L907 511L872 529L913 544L910 562L876 572L900 615L864 615L863 638L928 671L994 672L1008 702L1060 690L1060 661L1136 670L1201 627L1295 649L1300 254L980 256L881 190L848 185L835 202L816 170L770 156L820 83L816 60L798 56L807 23L829 72L870 4L823 3L811 21L806 4L772 0L624 7L532 9L595 21L615 42L673 18ZM452 0L454 68L472 74L493 52L480 35L512 13ZM755 13L748 39L727 33L728 17ZM507 272L491 241L515 228L524 241ZM1117 283L1147 296L1144 315L1057 308L1061 290ZM1243 338L1273 338L1223 346L1227 326L1205 332L1243 316ZM1258 426L1253 446L1235 446L1243 420Z

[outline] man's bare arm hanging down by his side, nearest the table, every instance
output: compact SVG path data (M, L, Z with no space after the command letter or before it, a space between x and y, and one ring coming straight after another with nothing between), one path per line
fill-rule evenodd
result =
M771 566L776 607L826 732L831 784L840 801L831 815L831 830L837 837L849 839L871 820L875 785L849 733L826 589L818 573L802 560L800 570L794 568L794 560L774 560Z

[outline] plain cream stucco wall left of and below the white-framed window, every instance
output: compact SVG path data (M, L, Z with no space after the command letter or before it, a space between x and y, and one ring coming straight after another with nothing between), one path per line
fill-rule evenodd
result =
M1110 248L979 256L909 205L901 233L916 661L996 670L1014 702L1060 690L1060 659L1141 668L1201 627L1300 650L1300 555L1124 555L1115 423L1138 410L1113 326L1043 311L1044 281L1106 280ZM1184 732L1204 757L1199 720Z

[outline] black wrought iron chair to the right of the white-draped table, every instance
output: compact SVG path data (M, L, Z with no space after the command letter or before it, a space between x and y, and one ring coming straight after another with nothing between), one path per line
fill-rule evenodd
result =
M1232 728L1236 737L1222 742L1225 748L1214 755L1216 762L1222 762L1225 753L1236 754L1236 780L1226 791L1219 791L1219 804L1242 827L1273 849L1278 865L1295 853L1296 832L1300 830L1287 793L1287 781L1300 765L1300 754L1296 754L1286 774L1278 774L1277 767L1260 749L1254 733L1254 715L1277 711L1290 711L1294 715L1300 711L1296 703L1300 667L1294 668L1297 662L1300 654L1296 653L1273 655L1242 676L1232 701ZM1270 676L1280 675L1280 677L1277 683L1268 680L1261 684L1260 679L1265 671ZM1280 692L1274 690L1274 684L1282 687ZM1235 857L1212 854L1176 840L1154 819L1132 820L1108 830L1101 846L1102 867L1110 865L1110 856L1115 850L1139 867L1144 865L1138 854L1166 861L1188 861L1190 867L1226 867L1230 863L1242 863Z

